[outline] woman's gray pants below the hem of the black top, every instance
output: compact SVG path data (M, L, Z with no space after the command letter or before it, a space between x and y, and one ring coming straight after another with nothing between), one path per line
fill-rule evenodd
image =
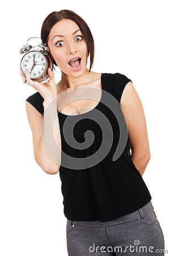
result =
M164 237L151 201L112 221L71 221L66 226L69 256L164 255Z

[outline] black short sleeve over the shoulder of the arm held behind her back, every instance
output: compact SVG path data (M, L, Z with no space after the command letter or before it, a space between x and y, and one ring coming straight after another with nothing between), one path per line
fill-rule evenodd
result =
M119 103L121 101L122 93L128 82L131 82L131 80L128 79L128 77L126 77L125 75L122 75L120 73L113 74L113 94Z

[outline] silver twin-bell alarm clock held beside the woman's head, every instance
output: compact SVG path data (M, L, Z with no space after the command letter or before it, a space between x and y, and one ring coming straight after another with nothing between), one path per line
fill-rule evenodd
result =
M24 75L29 71L29 75L32 80L47 82L47 79L49 78L48 68L53 70L52 56L50 55L48 46L43 44L42 40L37 46L32 47L28 44L30 39L35 38L37 37L29 38L27 40L27 45L20 49L20 53L24 54L20 61L20 68Z

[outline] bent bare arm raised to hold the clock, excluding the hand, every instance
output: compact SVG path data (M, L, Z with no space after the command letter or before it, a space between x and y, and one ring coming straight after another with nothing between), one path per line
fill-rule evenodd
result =
M43 105L45 109L48 104L46 101L44 101ZM54 109L53 111L51 108L50 115L49 114L46 115L44 111L44 117L43 117L39 112L37 112L37 110L29 102L26 101L26 110L27 110L29 125L32 131L33 151L34 151L35 160L37 164L39 164L39 166L42 168L42 170L44 170L47 174L57 174L60 167L60 163L61 163L61 135L59 131L58 117L56 117L56 109ZM54 122L54 138L56 139L56 143L60 148L58 152L56 150L56 155L58 154L58 159L59 159L57 162L58 164L54 162L52 158L50 158L50 156L47 154L44 147L44 141L46 138L48 139L48 143L50 144L50 134L49 133L47 134L47 132L49 131L47 126L49 125L50 120L52 120L53 122L54 117L56 117L56 120ZM41 137L41 135L43 135L43 133L44 133L44 136L43 136L44 140L42 142L43 137Z

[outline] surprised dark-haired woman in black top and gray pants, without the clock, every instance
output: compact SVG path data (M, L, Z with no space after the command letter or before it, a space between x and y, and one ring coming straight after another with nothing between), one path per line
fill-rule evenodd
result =
M27 84L37 93L26 108L36 162L61 177L69 255L163 255L163 233L142 179L150 160L145 114L131 80L91 71L94 39L73 11L49 14L41 39L61 69L61 81L55 84L50 69L44 84L27 72ZM55 150L49 134L54 117Z

